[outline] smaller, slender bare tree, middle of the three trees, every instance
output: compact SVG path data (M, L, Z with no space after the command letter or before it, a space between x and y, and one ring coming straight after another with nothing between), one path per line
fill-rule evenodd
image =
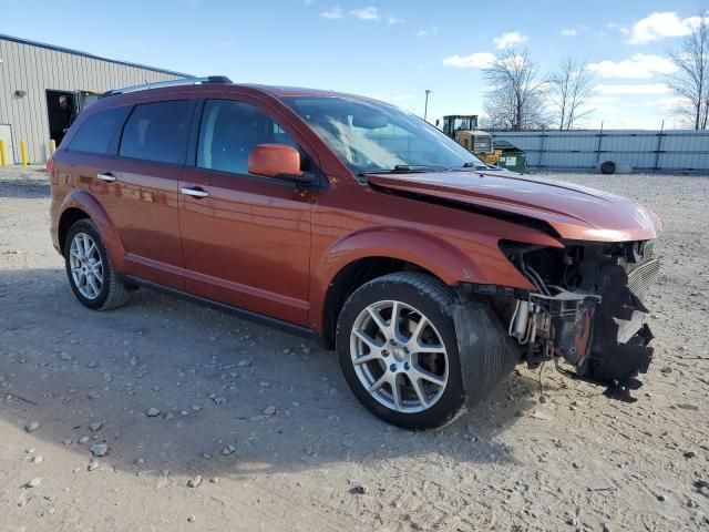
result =
M564 58L558 70L549 76L548 94L559 130L573 130L593 113L588 103L594 91L594 75L588 63L571 55Z

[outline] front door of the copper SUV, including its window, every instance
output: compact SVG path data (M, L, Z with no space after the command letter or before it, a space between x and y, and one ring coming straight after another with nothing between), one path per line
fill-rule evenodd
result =
M292 136L259 106L207 100L196 157L179 183L186 290L294 324L308 323L310 213L317 193L248 173L250 150Z

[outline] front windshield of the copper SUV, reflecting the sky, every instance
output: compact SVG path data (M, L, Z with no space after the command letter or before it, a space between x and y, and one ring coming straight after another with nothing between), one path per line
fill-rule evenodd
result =
M485 167L485 163L418 116L378 102L339 96L287 98L354 173Z

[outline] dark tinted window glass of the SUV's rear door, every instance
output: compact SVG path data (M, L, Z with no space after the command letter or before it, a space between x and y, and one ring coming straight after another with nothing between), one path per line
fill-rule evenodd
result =
M184 164L191 119L188 100L137 105L123 129L119 155Z

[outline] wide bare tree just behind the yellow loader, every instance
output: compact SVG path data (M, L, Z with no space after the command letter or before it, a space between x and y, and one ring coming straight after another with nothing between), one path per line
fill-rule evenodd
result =
M546 84L527 50L505 50L483 75L491 85L484 108L493 129L522 131L546 125Z

